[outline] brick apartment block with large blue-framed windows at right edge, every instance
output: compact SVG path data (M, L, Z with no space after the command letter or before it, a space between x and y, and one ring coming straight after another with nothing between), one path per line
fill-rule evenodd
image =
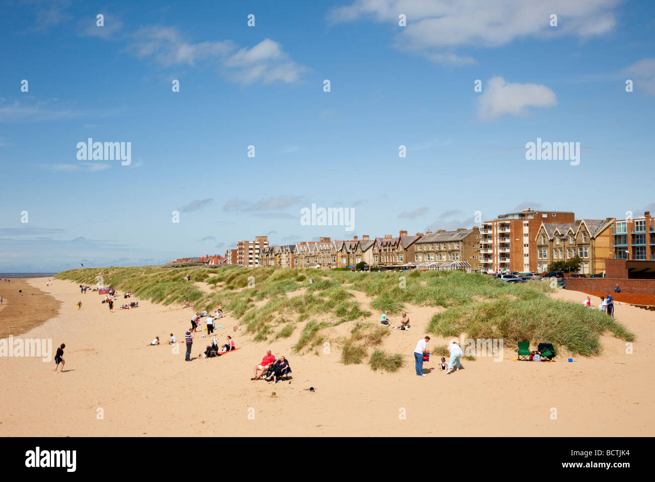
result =
M655 260L655 220L650 211L634 219L614 220L612 257L626 260Z

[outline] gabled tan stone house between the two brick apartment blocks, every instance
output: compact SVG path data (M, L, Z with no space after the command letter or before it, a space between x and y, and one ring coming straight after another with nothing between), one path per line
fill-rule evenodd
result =
M582 258L580 273L603 273L612 258L614 218L582 219L569 223L542 222L536 235L537 271L548 270L553 261Z

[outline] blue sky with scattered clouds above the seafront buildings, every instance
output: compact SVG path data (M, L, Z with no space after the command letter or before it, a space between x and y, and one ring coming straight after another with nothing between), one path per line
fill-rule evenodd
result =
M0 272L655 211L654 3L452 4L3 2ZM79 161L87 138L131 164ZM580 164L527 161L536 138ZM312 203L354 231L301 226Z

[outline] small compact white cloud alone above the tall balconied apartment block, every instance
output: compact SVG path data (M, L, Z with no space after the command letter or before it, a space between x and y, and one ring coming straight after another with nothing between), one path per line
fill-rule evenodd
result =
M508 83L502 77L493 77L483 86L478 115L489 121L506 114L525 115L528 107L556 104L555 92L545 85Z

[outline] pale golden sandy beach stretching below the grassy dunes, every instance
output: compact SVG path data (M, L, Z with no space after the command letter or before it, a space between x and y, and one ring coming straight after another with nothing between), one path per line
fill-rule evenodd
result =
M244 331L233 332L238 323L230 313L216 333L221 341L233 335L240 349L197 359L209 344L198 332L195 359L185 363L184 346L175 353L166 342L171 332L183 340L191 310L121 296L110 313L102 296L81 295L70 281L26 283L61 306L45 323L24 325L29 331L21 336L51 338L53 349L65 343L65 371L55 374L54 362L35 357L0 357L0 436L655 435L654 311L616 307L616 318L636 335L631 354L626 342L607 334L601 355L576 357L576 363L567 363L566 353L558 353L556 363L514 362L515 347L505 346L500 363L478 357L451 375L439 371L435 355L424 365L428 376L417 377L412 353L438 308L407 307L411 332L392 331L384 339L384 350L405 355L396 373L342 365L338 346L293 355L298 329L290 338L253 342ZM552 296L582 302L586 295L559 290ZM140 307L117 309L130 300ZM379 323L379 316L371 321ZM349 325L331 330L345 334ZM162 345L147 346L157 335ZM433 336L428 348L446 341ZM269 347L288 357L291 383L250 380ZM310 386L314 393L303 390Z

